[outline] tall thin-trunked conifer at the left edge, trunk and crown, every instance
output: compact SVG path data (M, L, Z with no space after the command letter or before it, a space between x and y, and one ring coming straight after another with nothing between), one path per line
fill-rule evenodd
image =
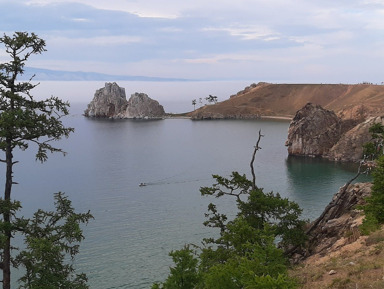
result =
M11 198L13 169L17 161L13 152L16 148L26 150L31 144L37 146L36 159L44 162L48 152L61 152L51 145L52 141L68 137L73 128L65 127L61 118L68 114L69 104L57 97L35 100L31 90L37 86L29 81L19 81L27 60L45 50L45 41L34 33L15 32L0 38L10 60L0 64L0 149L5 157L5 188L0 200L0 268L3 270L3 288L9 289L11 282L11 239L19 228L15 214L20 203Z

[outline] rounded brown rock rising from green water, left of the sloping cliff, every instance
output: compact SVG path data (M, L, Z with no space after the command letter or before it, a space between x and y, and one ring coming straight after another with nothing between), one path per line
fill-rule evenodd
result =
M322 156L340 139L342 122L332 111L308 103L293 118L286 146L289 155Z

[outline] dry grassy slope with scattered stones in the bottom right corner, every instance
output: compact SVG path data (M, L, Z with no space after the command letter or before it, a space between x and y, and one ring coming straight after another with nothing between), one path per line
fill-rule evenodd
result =
M290 275L302 289L384 288L384 228L327 255L312 256Z

